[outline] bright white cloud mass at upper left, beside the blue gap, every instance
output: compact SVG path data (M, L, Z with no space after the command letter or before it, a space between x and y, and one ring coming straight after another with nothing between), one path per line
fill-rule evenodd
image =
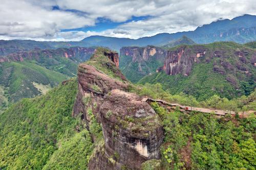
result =
M72 12L52 11L25 1L6 1L0 5L0 35L8 37L51 37L61 29L94 25L94 19Z

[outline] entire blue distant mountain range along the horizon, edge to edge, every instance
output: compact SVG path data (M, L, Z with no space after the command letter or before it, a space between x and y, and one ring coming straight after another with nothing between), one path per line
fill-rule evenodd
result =
M151 37L139 39L115 38L105 36L90 36L81 41L54 42L32 40L0 40L0 55L7 55L20 50L32 50L35 47L42 49L71 47L71 46L105 46L119 51L122 46L162 46L186 36L198 44L215 41L234 41L246 43L256 40L256 16L243 15L231 20L217 20L208 25L198 27L195 31L178 33L161 33Z

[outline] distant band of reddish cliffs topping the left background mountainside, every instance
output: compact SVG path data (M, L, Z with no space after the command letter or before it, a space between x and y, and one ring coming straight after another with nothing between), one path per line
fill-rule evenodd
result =
M79 61L86 61L95 53L95 50L95 48L91 47L58 48L56 50L41 50L40 48L35 48L32 51L21 51L7 56L0 56L0 62L23 62L25 58L39 60L41 57L53 58L54 56L77 58Z

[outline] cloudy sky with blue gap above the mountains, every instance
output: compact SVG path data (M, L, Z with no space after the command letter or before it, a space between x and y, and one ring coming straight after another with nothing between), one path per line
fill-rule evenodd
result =
M255 9L255 0L1 0L0 39L137 39L193 31L220 18L256 15Z

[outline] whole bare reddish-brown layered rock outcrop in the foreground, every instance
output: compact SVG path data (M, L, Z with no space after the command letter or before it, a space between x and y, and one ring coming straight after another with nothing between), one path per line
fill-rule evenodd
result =
M107 65L116 65L111 60ZM144 161L160 158L163 141L160 118L141 97L126 92L131 85L124 77L118 77L119 80L113 79L92 65L80 64L78 67L78 93L73 116L82 113L81 118L90 131L88 109L91 108L102 125L104 138L91 157L89 169L140 169ZM95 140L94 136L92 138Z

